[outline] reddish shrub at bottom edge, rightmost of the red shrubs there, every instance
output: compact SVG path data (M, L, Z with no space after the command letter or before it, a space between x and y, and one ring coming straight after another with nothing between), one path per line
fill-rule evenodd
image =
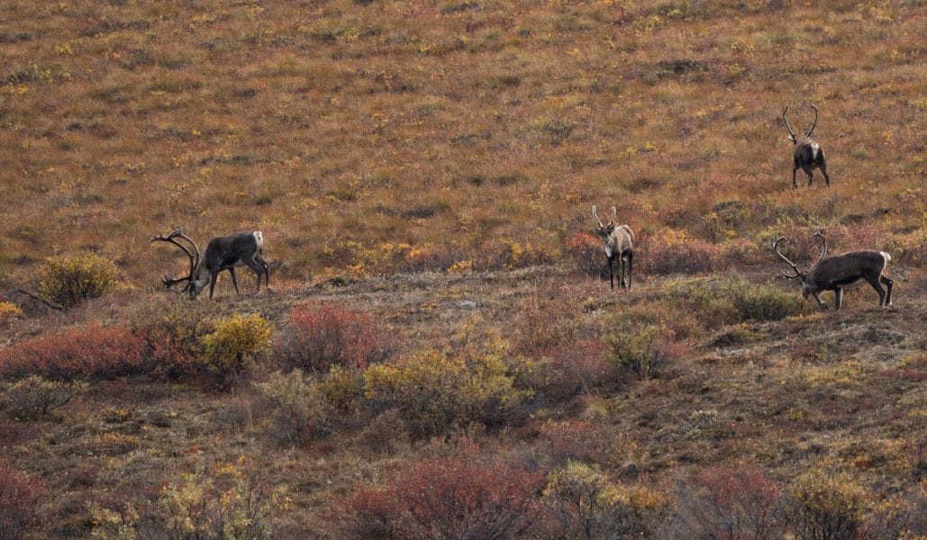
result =
M713 540L779 539L780 495L775 481L754 464L710 467L678 497L675 532Z

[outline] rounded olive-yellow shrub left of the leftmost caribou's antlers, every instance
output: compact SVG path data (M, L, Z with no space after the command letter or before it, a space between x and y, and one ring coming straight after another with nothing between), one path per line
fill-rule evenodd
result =
M88 252L45 262L39 270L39 291L49 300L70 308L107 294L117 280L112 261Z

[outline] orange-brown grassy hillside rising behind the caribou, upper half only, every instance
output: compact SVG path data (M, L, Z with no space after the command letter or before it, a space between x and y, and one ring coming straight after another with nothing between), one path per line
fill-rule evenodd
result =
M740 200L721 239L750 242L782 215L921 227L921 6L734 4L5 2L0 279L92 248L148 286L175 224L260 228L293 279L403 243L556 260L591 204L703 235ZM835 183L810 196L780 120L808 103Z

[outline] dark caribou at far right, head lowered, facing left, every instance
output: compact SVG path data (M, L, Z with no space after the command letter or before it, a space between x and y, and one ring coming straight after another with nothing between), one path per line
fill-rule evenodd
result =
M888 261L892 260L890 255L884 251L862 249L828 257L826 255L827 239L824 238L824 234L816 232L814 235L821 239L820 257L818 257L818 262L804 273L798 270L798 266L779 251L779 245L785 240L784 236L780 236L772 245L776 255L791 266L795 272L789 274L782 270L782 275L790 280L798 278L801 281L802 295L806 300L808 295L813 295L820 308L827 309L827 304L820 299L819 293L821 291L833 291L836 309L840 309L844 302L844 287L865 280L879 293L879 306L892 305L892 284L894 282L883 276L885 266L888 265ZM887 291L883 289L883 284L888 289Z

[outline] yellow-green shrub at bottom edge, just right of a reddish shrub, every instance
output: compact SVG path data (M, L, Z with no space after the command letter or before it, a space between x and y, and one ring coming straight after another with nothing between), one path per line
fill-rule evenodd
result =
M808 471L789 490L781 519L796 540L862 539L866 499L862 486L845 473Z

